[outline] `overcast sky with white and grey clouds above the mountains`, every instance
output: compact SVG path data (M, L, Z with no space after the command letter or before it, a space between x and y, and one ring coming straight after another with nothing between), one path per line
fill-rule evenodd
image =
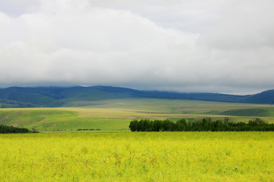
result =
M273 0L0 0L0 87L274 89Z

